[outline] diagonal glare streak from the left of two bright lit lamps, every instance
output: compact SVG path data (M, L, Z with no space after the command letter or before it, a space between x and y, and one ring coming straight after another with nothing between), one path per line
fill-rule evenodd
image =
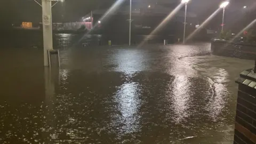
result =
M174 17L174 15L182 8L183 5L185 4L180 3L177 7L175 7L175 9L139 44L138 47L145 44L145 42L150 39L152 35L155 35L158 30L163 28L167 24L167 22L169 22Z

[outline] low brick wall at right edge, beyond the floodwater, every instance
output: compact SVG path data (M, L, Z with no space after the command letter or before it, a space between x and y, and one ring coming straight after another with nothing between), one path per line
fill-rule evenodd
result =
M226 41L212 41L211 51L215 55L254 60L256 45L227 43Z

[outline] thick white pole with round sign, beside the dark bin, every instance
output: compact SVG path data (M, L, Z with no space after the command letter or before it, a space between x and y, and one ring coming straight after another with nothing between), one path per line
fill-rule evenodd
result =
M50 0L42 0L43 14L43 41L44 41L44 66L49 66L47 50L53 49L52 44L52 3ZM49 25L44 23L49 18Z

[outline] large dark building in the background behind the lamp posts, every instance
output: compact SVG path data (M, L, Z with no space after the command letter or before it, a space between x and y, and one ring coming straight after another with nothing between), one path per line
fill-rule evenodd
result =
M157 4L150 6L133 6L132 33L140 35L150 34L151 31L153 31L172 10L173 9L170 9L170 7ZM110 12L108 15L106 15L106 18L99 21L107 11L108 9L101 9L92 12L93 25L97 25L95 29L97 29L99 33L127 33L127 31L129 31L129 21L127 20L129 19L130 6L123 6L114 12ZM158 34L183 34L182 29L184 17L185 12L183 10L178 11L175 13L175 15L173 15L173 18L170 21L166 21L165 27L158 31ZM195 29L195 25L197 25L197 15L187 12L187 23L188 29Z

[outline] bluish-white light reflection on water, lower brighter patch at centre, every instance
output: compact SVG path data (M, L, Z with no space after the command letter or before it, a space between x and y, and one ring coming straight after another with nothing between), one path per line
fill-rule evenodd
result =
M118 109L121 111L119 121L123 125L124 133L131 133L139 130L139 118L137 114L141 105L139 99L139 85L137 83L125 83L116 94Z

